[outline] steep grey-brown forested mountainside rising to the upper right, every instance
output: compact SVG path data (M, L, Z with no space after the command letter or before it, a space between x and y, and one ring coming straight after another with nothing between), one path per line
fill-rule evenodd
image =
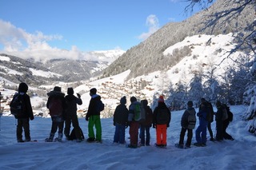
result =
M248 31L253 29L253 27L250 27L250 23L255 18L254 13L251 12L254 11L254 6L246 6L242 12L239 10L237 19L224 15L219 22L214 22L216 18L223 15L222 11L232 10L238 5L238 1L232 2L230 5L224 0L218 0L209 9L194 14L183 22L166 24L166 26L152 34L150 38L127 50L126 53L104 69L102 77L122 73L127 69L131 70L129 78L153 73L157 70L169 69L182 60L183 57L190 54L190 50L177 49L177 53L171 56L166 56L164 54L165 50L171 45L182 42L188 36L199 34L248 34ZM166 62L166 57L169 57L169 62Z

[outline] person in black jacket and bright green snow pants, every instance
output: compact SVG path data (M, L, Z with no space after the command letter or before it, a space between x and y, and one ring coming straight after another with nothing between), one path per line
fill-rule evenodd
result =
M98 101L101 101L102 97L97 94L97 89L90 89L90 104L86 114L86 121L88 122L88 142L96 141L102 142L102 124L100 111L98 111ZM94 125L96 128L96 138L94 135Z

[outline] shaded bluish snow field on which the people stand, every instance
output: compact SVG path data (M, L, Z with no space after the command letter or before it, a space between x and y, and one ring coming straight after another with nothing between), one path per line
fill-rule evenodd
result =
M51 128L50 118L35 117L30 121L31 138L38 142L16 142L14 117L1 117L0 169L256 169L256 137L246 131L246 122L240 115L244 106L231 106L234 121L227 132L235 140L222 142L207 141L206 147L189 149L175 148L181 130L183 111L172 112L170 128L167 130L167 148L156 148L155 129L151 128L151 146L126 148L114 145L114 125L112 118L102 119L102 144L44 142ZM215 109L216 110L216 109ZM87 138L87 124L79 119ZM198 123L198 121L197 121ZM215 122L212 124L213 131ZM129 128L126 128L126 142L129 143ZM215 132L214 132L215 133ZM207 134L209 137L209 134ZM186 137L185 137L186 140ZM195 133L192 143L195 142Z

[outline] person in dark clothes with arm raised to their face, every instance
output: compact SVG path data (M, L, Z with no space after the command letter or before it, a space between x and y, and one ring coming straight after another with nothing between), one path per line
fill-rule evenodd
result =
M67 95L65 97L66 101L66 110L65 110L65 128L64 134L66 138L70 139L70 125L74 127L74 133L78 142L82 141L82 132L78 122L77 105L82 105L82 99L79 93L77 93L78 97L74 96L74 89L68 88Z

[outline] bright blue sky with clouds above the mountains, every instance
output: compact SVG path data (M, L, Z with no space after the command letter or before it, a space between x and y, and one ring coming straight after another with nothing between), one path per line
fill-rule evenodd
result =
M190 17L185 1L0 0L0 52L127 50Z

